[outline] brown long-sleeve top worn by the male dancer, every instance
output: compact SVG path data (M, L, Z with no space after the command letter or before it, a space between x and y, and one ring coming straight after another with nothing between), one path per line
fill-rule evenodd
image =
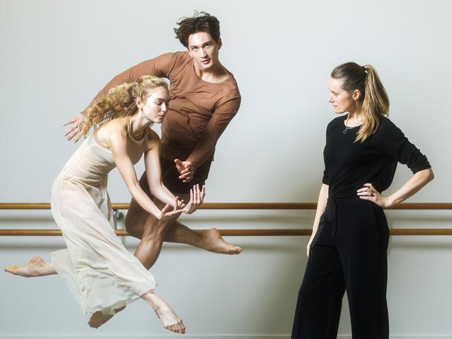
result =
M195 167L212 160L218 138L239 110L241 96L234 76L209 83L197 76L188 52L165 53L118 74L95 99L143 75L170 80L170 105L161 127L161 156L188 160Z

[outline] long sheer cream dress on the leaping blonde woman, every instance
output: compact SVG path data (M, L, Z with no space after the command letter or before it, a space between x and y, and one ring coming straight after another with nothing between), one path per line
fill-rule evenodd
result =
M135 164L145 151L147 135L134 140L130 119L127 131L129 156ZM115 167L111 151L91 134L63 167L51 190L51 213L67 245L67 249L51 253L51 260L85 314L114 314L115 308L156 288L154 276L115 235L106 190L108 172Z

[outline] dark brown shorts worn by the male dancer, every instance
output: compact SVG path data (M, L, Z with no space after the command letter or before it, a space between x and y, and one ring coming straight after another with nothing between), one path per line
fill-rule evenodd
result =
M211 160L207 160L202 163L202 165L196 169L193 179L191 179L188 183L183 183L181 179L179 179L180 174L177 171L174 161L160 158L163 185L165 185L173 195L189 194L190 189L193 188L193 185L196 185L197 183L204 185L206 183L211 163ZM143 173L141 176L140 186L147 195L151 195L149 184L147 183L146 173Z

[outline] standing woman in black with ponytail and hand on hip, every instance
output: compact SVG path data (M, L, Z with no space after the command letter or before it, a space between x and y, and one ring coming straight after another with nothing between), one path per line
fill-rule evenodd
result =
M354 339L389 338L386 302L389 229L383 208L433 179L426 156L387 118L389 98L371 65L344 63L328 81L337 117L328 124L325 172L292 339L335 339L347 291ZM397 163L412 178L385 197Z

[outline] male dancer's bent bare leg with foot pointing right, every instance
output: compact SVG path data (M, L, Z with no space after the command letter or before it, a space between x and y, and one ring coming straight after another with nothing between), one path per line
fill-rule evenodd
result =
M177 196L180 197L180 199L184 199L184 201L190 200L188 195ZM155 202L157 206L163 206L160 201ZM149 219L148 216L148 213L132 199L125 220L127 232L138 239L142 239L145 229L152 229L152 225L155 224L155 220ZM168 226L163 241L192 245L220 254L239 254L242 251L241 247L225 242L217 229L197 232L189 229L180 222L174 222L172 225Z

